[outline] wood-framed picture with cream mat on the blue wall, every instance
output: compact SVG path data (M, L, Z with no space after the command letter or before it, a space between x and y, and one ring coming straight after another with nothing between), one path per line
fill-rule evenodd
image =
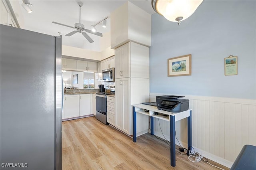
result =
M168 77L191 75L191 54L168 59Z

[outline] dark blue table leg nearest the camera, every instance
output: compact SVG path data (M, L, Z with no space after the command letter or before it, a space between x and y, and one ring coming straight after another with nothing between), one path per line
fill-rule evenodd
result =
M170 116L170 154L171 154L171 166L176 166L175 162L175 116Z

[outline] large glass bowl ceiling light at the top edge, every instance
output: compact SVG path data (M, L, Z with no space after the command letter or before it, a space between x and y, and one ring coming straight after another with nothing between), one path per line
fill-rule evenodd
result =
M152 0L151 4L158 14L172 22L180 22L190 17L203 0Z

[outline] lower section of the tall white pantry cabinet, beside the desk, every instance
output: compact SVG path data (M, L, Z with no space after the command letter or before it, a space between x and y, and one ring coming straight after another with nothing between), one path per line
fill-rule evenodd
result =
M132 105L149 101L149 79L115 79L116 128L132 135ZM140 116L137 116L137 120ZM138 121L139 122L139 121ZM137 130L140 129L139 123Z

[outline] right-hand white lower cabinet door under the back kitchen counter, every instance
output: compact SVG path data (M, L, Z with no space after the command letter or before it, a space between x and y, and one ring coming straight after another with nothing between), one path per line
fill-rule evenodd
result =
M90 115L91 107L90 107L90 101L91 97L90 94L82 94L79 95L80 100L79 100L79 116L85 116L85 115Z

